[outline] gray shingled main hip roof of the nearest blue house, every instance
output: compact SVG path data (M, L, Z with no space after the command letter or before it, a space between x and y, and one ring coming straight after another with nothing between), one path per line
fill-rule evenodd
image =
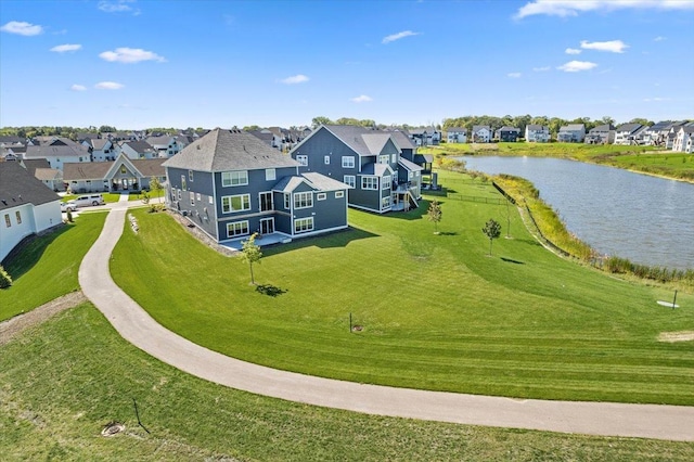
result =
M296 167L299 163L247 131L216 128L164 163L196 171Z

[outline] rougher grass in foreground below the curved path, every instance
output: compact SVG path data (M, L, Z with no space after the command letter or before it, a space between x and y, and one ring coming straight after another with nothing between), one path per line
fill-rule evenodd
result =
M233 390L132 347L89 304L0 346L0 384L3 461L694 459L687 442L381 418ZM114 420L126 432L101 437Z

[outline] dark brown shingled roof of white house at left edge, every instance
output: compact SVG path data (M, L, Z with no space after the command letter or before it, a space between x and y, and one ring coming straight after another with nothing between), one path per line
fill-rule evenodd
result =
M57 194L46 188L18 162L0 163L0 210L22 204L41 205L59 200Z

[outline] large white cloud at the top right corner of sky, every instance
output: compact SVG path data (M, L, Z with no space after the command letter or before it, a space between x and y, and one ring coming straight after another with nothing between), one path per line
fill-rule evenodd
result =
M567 17L578 16L589 11L607 12L626 9L694 10L694 2L690 0L535 0L520 7L514 17L520 20L536 14Z

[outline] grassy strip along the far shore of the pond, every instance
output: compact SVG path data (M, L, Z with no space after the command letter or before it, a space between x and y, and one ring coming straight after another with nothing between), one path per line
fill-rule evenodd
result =
M692 154L654 151L653 146L525 142L445 143L438 146L421 147L419 152L421 154L435 155L511 155L569 158L694 181L694 156Z

